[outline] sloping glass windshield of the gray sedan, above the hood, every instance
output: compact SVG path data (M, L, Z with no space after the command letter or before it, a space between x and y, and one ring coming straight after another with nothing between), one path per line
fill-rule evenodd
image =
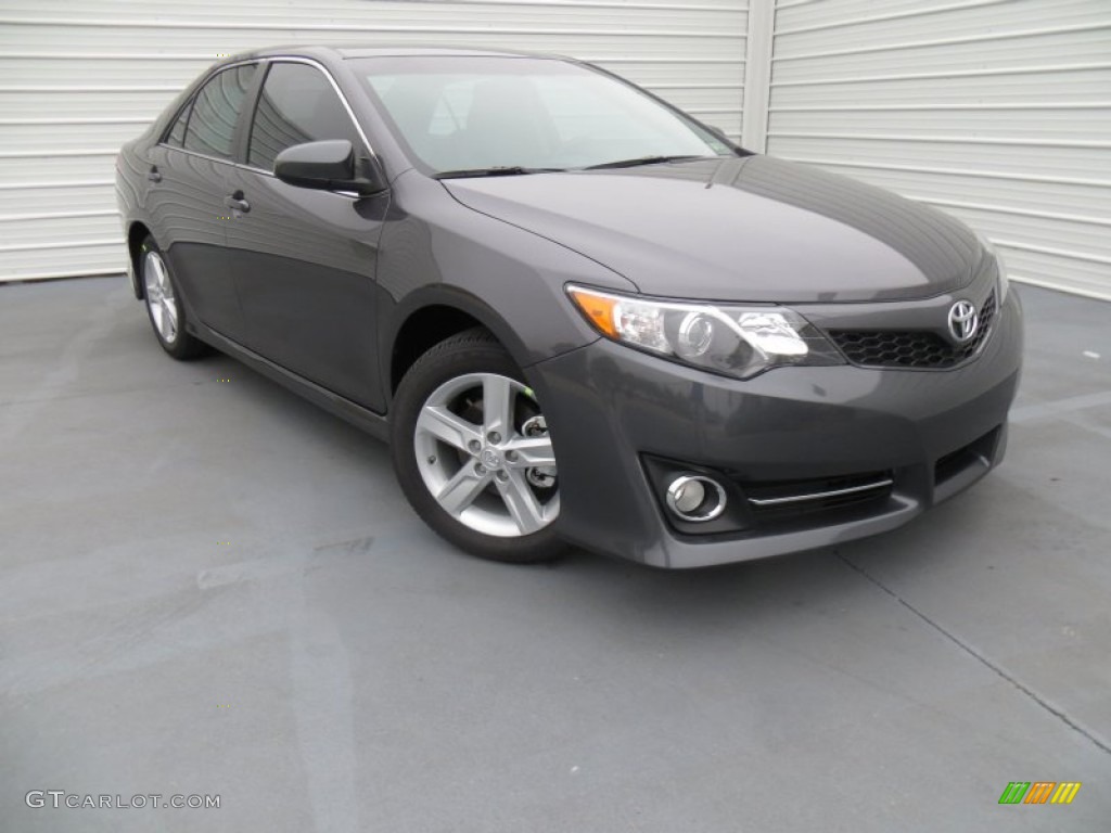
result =
M733 154L637 88L568 61L424 56L352 63L432 174Z

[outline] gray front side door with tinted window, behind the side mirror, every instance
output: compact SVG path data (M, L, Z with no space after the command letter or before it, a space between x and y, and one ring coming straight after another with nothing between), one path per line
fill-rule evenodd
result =
M374 268L388 194L296 188L273 161L303 142L347 139L369 149L324 70L270 63L247 140L231 172L229 259L247 321L247 344L298 375L384 410L376 338Z

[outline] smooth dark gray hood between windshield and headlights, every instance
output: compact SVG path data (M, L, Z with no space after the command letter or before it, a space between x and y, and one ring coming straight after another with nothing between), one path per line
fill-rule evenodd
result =
M984 255L939 211L764 155L442 182L464 205L654 295L920 299L968 284Z

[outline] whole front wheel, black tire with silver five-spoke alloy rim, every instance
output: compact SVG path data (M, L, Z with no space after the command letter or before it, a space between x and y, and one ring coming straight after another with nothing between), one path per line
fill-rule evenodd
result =
M489 331L452 335L409 369L390 439L406 498L460 550L523 564L564 549L554 531L559 484L543 414Z

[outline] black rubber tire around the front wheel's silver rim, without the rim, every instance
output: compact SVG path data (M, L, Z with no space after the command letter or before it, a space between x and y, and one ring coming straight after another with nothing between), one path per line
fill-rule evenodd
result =
M414 448L417 419L437 388L468 373L498 373L528 384L509 353L486 330L469 330L429 350L401 380L390 414L390 453L401 490L437 534L464 552L510 563L549 561L564 549L554 530L558 520L520 538L487 535L448 514L424 485Z

